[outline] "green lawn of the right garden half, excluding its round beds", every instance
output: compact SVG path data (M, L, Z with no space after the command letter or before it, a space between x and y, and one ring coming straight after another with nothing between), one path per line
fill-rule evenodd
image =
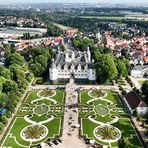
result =
M110 124L121 131L122 138L124 137L129 139L131 146L133 145L133 148L134 146L135 148L142 147L139 138L132 126L132 123L130 122L130 118L128 118L128 113L125 111L124 105L120 101L117 93L110 90L105 90L108 93L108 96L104 99L112 101L113 104L108 104L105 100L98 99L93 101L92 104L87 105L86 102L92 99L88 95L88 91L89 90L82 91L79 95L79 118L81 120L81 135L89 139L94 139L101 145L109 145L109 143L100 141L94 136L93 131L96 127L100 126L100 123L92 122L88 119L88 116L92 116L95 121L101 122L102 124L111 122L114 117L117 116L119 120ZM105 116L103 116L102 113L97 113L95 111L96 106L99 104L108 108L109 112ZM99 109L99 112L101 112L101 109ZM117 147L118 142L112 142L111 146Z

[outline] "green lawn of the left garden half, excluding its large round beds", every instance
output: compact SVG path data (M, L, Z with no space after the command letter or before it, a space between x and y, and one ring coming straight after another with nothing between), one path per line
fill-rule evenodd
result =
M58 103L55 105L46 98L42 98L42 100L37 100L35 103L31 104L32 101L39 99L39 97L37 97L38 91L39 90L34 90L32 92L29 92L27 98L25 99L25 102L21 104L21 107L16 114L16 120L12 123L12 127L7 133L2 147L11 146L12 148L22 148L24 146L31 146L30 142L23 140L20 136L23 128L31 125L31 123L27 122L27 120L24 119L25 115L29 115L28 119L30 119L31 121L35 121L36 123L47 120L51 117L51 115L55 117L52 121L47 121L46 123L44 123L44 125L48 128L48 135L40 141L33 142L32 145L39 144L47 140L48 138L54 138L55 135L60 135L61 121L64 115L64 92L61 90L56 90L57 94L52 98L58 101ZM42 104L45 104L45 108L40 107ZM40 114L37 114L36 110ZM59 110L59 112L57 112L57 110Z

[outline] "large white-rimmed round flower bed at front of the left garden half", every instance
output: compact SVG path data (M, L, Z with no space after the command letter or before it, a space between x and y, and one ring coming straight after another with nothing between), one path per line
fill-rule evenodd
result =
M35 142L45 138L48 134L48 129L44 125L29 125L20 134L23 140Z

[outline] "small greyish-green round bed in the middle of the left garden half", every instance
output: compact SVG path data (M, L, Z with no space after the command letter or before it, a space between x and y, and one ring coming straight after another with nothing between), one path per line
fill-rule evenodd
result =
M38 105L37 107L34 108L34 112L37 115L46 114L48 111L49 111L49 107L45 104Z

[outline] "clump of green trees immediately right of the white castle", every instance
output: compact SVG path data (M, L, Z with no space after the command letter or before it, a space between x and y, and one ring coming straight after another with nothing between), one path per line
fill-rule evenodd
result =
M124 57L115 58L111 49L106 47L94 49L94 59L98 82L104 83L108 80L126 77L130 64Z

